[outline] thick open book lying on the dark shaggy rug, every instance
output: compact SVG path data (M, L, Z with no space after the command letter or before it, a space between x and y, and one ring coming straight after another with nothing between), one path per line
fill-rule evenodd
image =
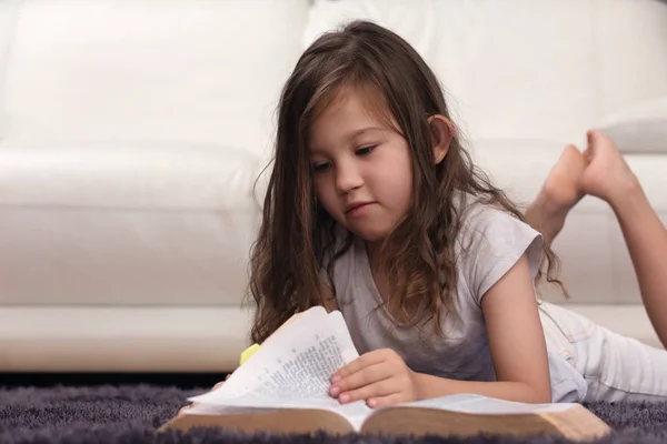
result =
M222 386L160 430L220 426L269 433L382 433L603 436L610 428L579 404L522 404L450 395L370 408L339 404L330 376L359 354L340 312L312 307L290 319Z

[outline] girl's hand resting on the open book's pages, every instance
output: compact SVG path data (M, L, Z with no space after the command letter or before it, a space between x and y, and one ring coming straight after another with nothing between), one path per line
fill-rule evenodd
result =
M416 401L417 376L394 350L376 350L334 373L329 394L341 404L366 400L369 407Z

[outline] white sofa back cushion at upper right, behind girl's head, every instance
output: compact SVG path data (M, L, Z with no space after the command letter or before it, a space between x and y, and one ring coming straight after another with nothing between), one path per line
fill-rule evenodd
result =
M667 92L666 2L317 0L306 43L354 18L415 46L474 138L571 140Z

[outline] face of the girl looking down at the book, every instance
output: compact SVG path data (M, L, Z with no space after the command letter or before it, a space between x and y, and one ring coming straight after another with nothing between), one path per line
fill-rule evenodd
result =
M354 89L344 89L332 103L309 134L317 199L340 225L380 242L410 205L410 149L370 115Z

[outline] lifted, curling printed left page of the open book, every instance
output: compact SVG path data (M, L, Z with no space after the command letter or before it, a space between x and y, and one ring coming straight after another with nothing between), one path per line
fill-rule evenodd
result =
M267 340L220 389L189 401L257 407L312 397L336 402L330 377L358 356L342 314L313 307Z

